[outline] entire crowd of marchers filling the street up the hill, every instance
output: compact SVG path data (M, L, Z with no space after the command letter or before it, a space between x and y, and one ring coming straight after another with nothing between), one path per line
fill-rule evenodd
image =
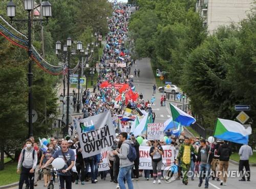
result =
M142 116L143 111L152 115L154 123L156 115L152 112L151 104L154 103L155 97L153 95L151 101L144 100L143 94L138 94L133 84L133 77L139 77L140 70L135 69L134 75L132 75L131 67L135 61L132 60L129 49L126 49L124 45L125 40L127 40L127 22L130 14L129 6L115 5L115 12L108 22L109 33L106 36L106 45L99 63L97 85L91 94L90 90L84 91L82 96L83 116L77 118L88 118L109 110L112 117L118 118L113 120L116 127L115 145L106 154L110 170L99 171L102 154L83 158L82 148L76 133L77 125L74 123L74 126L69 126L70 136L65 139L50 138L45 150L37 146L33 137L26 140L17 166L17 173L21 173L19 189L22 189L24 182L26 187L33 189L38 184L38 172L39 175L44 175L44 186L48 186L52 179L51 163L58 157L65 159L66 163L63 168L56 171L57 177L54 176L54 180L59 182L59 188L72 188L72 182L81 185L88 181L97 183L99 178L105 180L108 174L110 174L110 181L117 184L116 188L121 189L125 188L125 183L129 189L133 189L133 180L139 180L142 175L145 180L152 178L153 184L160 184L164 177L162 158L163 146L166 145L173 146L175 149L175 160L171 164L178 167L176 179L182 178L183 184L188 184L189 174L187 173L189 170L191 180L194 180L195 172L202 171L204 174L200 174L198 186L200 187L203 179L205 179L205 188L208 188L210 169L215 173L212 180L219 180L220 185L226 184L227 178L223 177L223 174L217 175L216 173L228 169L231 149L227 142L217 141L211 144L200 137L187 138L184 132L181 132L180 136L175 136L168 134L167 131L164 139L147 141L144 145L150 147L152 170L139 169L141 140L138 140L137 136L132 133L121 131L120 127L130 124L131 129L131 120L134 121L132 115ZM153 91L155 94L155 85ZM165 100L165 96L162 96L162 106L165 105ZM140 136L140 138L143 140L146 139L146 136ZM241 147L241 170L243 170L243 166L249 170L248 158L252 151L248 147L248 145ZM72 172L73 167L77 171L75 174ZM21 172L20 168L22 168ZM247 180L250 180L250 177L247 177Z

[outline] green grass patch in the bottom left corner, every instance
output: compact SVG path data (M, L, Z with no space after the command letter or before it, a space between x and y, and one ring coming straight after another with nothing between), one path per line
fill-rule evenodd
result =
M16 174L17 162L5 164L5 169L0 171L0 186L19 181L19 175Z

